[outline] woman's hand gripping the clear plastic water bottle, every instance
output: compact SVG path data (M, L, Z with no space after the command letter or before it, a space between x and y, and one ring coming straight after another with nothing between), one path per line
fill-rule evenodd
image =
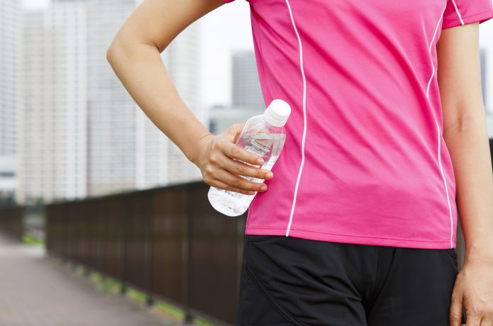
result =
M267 185L244 179L242 176L272 179L273 175L270 170L243 163L248 162L256 166L264 164L262 157L235 144L244 125L245 123L236 123L220 135L209 134L201 137L196 142L194 158L191 161L199 167L206 184L253 195L255 191L266 191ZM262 186L265 186L265 189L262 189Z

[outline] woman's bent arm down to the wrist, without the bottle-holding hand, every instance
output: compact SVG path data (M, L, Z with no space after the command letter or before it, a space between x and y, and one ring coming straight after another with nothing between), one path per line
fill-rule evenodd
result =
M223 0L146 0L127 18L106 58L144 113L191 159L193 145L208 135L177 93L160 52L191 23Z

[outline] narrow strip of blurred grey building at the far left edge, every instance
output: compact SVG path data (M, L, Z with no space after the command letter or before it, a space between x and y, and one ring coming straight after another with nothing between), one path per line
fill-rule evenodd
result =
M0 0L0 201L12 201L16 188L18 2Z

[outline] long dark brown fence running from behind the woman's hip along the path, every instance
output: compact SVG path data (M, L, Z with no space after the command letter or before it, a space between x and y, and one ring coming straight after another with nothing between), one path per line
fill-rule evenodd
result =
M234 325L245 218L218 213L203 181L46 206L48 254L194 315ZM248 212L248 211L247 211Z

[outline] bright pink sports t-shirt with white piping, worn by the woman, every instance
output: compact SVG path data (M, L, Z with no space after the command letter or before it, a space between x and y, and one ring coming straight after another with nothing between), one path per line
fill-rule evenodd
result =
M245 234L455 248L436 43L492 0L246 1L266 106L292 113Z

